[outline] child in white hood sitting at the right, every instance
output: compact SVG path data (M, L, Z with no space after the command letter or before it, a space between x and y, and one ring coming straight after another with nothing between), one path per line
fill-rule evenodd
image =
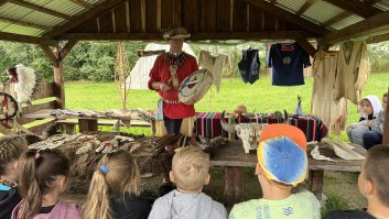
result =
M377 96L369 95L359 101L359 112L361 118L359 122L347 127L347 135L352 143L364 145L363 135L371 131L374 120L381 110L381 103Z

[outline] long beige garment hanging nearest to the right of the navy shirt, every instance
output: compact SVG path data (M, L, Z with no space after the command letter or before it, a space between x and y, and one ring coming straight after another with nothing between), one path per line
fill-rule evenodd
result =
M347 100L334 97L337 53L316 53L313 62L311 113L322 119L328 131L339 134L346 128Z

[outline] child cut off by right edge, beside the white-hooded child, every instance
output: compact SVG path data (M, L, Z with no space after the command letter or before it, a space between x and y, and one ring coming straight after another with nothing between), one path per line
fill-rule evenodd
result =
M370 149L374 145L382 143L383 123L385 123L385 116L386 116L386 110L387 110L387 102L388 102L388 94L385 94L382 96L382 109L378 113L371 131L365 132L363 135L365 149Z

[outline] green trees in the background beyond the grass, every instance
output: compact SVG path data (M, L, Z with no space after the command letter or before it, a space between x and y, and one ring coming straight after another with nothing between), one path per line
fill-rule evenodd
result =
M137 50L142 50L144 42L127 42L126 51L131 67L138 61ZM226 70L227 76L238 76L237 64L241 58L241 50L249 47L258 48L261 72L266 63L266 44L259 42L247 42L244 44L212 44L195 43L191 44L193 52L198 55L201 50L228 54L230 68ZM117 53L115 42L78 42L64 61L65 80L94 80L112 81L114 65ZM389 42L369 45L371 72L389 72ZM0 41L0 69L6 70L17 64L36 69L45 80L53 79L53 67L42 50L36 45L10 43Z

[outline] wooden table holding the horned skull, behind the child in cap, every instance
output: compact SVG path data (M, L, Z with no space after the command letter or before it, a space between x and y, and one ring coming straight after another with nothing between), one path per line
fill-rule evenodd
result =
M366 150L361 146L356 146L356 151L359 154L366 154ZM317 199L322 199L324 171L360 172L363 162L338 158L334 152L328 152L324 155L328 155L337 162L316 161L307 152L309 188L315 194ZM224 196L227 201L226 205L233 206L234 204L241 202L244 200L244 168L256 167L257 154L246 154L241 141L231 141L217 151L215 156L210 158L210 165L224 167L225 169Z

